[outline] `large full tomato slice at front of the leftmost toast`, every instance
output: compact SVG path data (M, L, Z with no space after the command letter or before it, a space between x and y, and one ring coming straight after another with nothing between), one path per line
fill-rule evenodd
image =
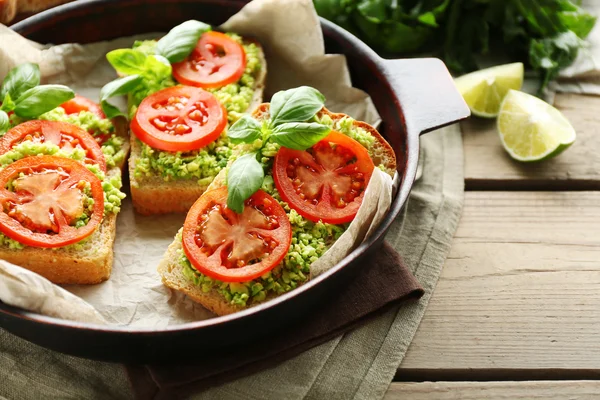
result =
M85 212L86 182L94 205L88 223L76 228L72 224ZM0 171L0 205L3 234L27 246L60 247L94 233L104 215L104 192L102 182L77 161L25 157Z

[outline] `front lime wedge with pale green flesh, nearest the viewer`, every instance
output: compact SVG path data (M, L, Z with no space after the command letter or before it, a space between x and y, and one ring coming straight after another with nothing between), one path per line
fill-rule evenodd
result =
M498 133L508 154L519 161L552 158L575 142L575 129L550 104L527 93L511 90L506 95Z

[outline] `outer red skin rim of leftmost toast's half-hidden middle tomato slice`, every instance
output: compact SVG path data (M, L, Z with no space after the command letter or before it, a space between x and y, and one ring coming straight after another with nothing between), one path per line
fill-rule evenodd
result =
M77 139L81 147L87 152L86 161L97 164L102 172L106 172L104 153L98 142L96 142L96 139L80 127L66 122L42 120L23 122L22 124L9 129L8 132L0 138L0 155L11 151L13 147L23 142L27 135L39 132L42 134L44 132L49 132L49 134L52 134L53 136L60 133L61 137L62 134L66 134ZM44 137L46 140L50 139L46 137L46 135L44 135ZM57 136L55 136L55 138L57 138Z

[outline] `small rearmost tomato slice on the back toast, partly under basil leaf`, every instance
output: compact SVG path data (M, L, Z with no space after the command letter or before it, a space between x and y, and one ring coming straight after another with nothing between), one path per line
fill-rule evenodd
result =
M218 88L237 82L246 69L242 45L220 32L202 34L192 54L173 64L178 82L201 88Z

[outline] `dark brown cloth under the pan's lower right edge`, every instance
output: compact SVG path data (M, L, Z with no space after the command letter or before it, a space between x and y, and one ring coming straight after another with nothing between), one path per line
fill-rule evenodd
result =
M276 365L347 332L402 301L416 300L423 289L387 242L372 263L332 295L317 313L263 343L189 365L127 366L138 399L174 399Z

